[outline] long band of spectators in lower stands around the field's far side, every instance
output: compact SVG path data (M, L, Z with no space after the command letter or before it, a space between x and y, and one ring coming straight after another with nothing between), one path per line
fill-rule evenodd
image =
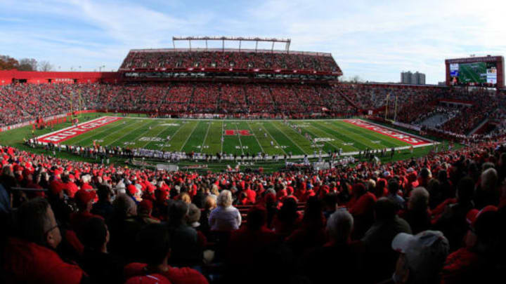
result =
M351 116L358 109L379 109L389 119L415 125L431 116L446 116L432 130L448 135L468 135L488 119L498 126L493 132L499 135L504 133L505 104L504 93L375 84L17 84L0 87L0 126L72 109L292 119Z

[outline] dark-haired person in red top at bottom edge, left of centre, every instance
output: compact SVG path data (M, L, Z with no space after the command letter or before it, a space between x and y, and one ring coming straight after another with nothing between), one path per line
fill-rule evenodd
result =
M160 274L173 284L207 284L202 274L188 267L176 268L169 265L171 239L162 224L148 224L136 236L136 244L145 263L134 262L124 267L125 278Z

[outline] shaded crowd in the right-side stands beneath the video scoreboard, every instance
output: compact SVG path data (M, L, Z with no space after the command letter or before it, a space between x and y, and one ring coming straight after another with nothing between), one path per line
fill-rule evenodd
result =
M359 109L380 109L389 119L403 123L417 124L437 114L448 116L434 130L455 135L469 134L489 117L504 117L506 103L504 93L482 89L376 84L343 84L339 89Z

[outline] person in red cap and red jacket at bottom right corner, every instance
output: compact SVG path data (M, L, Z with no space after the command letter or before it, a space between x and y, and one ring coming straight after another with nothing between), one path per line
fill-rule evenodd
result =
M488 205L480 211L470 210L467 221L466 246L448 255L441 283L493 283L502 277L494 258L495 244L500 238L498 226L502 225L498 209Z

